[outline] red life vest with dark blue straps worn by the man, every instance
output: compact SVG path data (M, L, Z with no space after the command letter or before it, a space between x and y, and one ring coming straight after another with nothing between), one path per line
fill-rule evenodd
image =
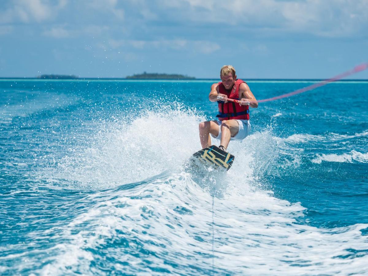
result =
M222 82L219 82L219 93L227 95L229 99L239 100L239 87L245 81L241 79L237 79L231 91L228 92L225 89L225 86ZM223 102L218 100L219 103L219 114L216 116L220 121L223 120L249 120L249 106L248 105L239 105L234 102Z

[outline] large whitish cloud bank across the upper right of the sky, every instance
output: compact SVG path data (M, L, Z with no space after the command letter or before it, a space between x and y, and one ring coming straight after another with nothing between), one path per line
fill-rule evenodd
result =
M275 32L350 36L367 33L367 0L162 0L174 20L197 24L220 23L244 28L271 28ZM176 11L175 11L176 10Z

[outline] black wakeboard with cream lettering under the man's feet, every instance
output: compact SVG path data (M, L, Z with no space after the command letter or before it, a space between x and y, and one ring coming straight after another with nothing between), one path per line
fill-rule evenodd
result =
M226 170L229 170L233 164L234 155L224 152L219 147L212 145L194 153L190 160L192 163L195 163L198 160L205 166L212 166L216 169L225 168Z

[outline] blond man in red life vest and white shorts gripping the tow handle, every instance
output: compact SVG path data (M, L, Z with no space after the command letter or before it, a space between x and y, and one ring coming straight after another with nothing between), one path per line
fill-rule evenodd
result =
M219 105L218 120L199 123L199 138L203 149L211 145L211 135L220 140L219 148L227 152L230 140L243 140L248 136L251 130L249 106L256 108L258 102L247 83L237 79L233 66L223 66L220 78L221 82L212 84L208 96ZM238 101L231 102L231 99Z

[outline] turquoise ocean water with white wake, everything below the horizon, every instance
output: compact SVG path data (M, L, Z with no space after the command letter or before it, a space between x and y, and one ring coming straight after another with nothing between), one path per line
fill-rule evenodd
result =
M1 80L0 274L367 275L368 82L262 103L188 172L211 84Z

